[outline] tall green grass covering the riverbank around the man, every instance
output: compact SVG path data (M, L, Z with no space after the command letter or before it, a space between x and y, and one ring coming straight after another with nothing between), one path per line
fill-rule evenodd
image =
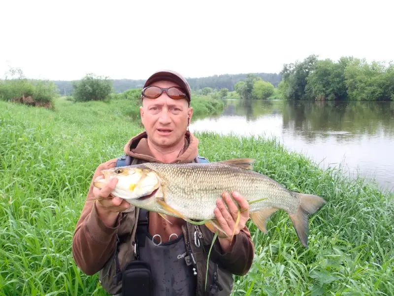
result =
M115 102L55 106L0 102L0 296L107 295L73 262L72 234L94 170L141 127ZM393 196L323 171L275 140L197 136L210 161L253 157L255 170L328 201L309 219L309 249L283 212L267 235L249 222L255 260L233 295L394 296Z

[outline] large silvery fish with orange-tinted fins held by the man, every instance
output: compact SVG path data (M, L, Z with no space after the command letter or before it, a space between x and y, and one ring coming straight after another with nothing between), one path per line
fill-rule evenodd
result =
M286 211L301 243L308 247L308 214L326 201L316 195L289 191L276 181L252 170L253 159L211 163L165 164L148 162L103 170L94 181L102 188L110 179L119 181L112 195L131 205L169 215L215 222L216 200L224 191L239 192L250 204L250 218L267 233L266 221L277 210ZM234 200L236 203L236 201Z

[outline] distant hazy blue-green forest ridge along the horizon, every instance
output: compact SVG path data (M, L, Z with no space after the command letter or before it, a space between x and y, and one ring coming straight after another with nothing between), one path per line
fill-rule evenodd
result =
M227 88L229 91L235 90L235 84L239 81L243 81L247 78L248 74L223 74L223 75L213 75L208 77L198 77L198 78L187 78L191 89L199 90L206 87L220 90L222 88ZM277 86L282 80L281 74L276 73L255 73L254 75L261 77L263 80L272 83L272 85ZM145 83L144 79L111 79L114 92L121 93L131 88L142 88ZM61 95L69 96L72 93L72 84L78 81L63 81L56 80L53 81L58 87L59 93Z

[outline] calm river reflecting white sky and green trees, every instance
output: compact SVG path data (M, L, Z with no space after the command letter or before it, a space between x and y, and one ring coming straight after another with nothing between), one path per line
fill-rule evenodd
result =
M323 168L394 191L394 102L226 100L222 114L193 121L190 131L274 136Z

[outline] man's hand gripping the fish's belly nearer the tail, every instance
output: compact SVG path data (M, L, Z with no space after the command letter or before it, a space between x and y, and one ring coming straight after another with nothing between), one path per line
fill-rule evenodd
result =
M220 227L226 232L228 236L227 238L219 237L219 242L224 252L228 252L231 249L230 242L232 235L237 235L240 230L245 227L246 222L249 220L249 203L237 192L232 192L232 196L239 204L241 211L238 224L236 224L238 218L238 207L230 198L229 193L223 193L223 199L217 200L217 208L214 210ZM225 202L229 209L226 208Z

